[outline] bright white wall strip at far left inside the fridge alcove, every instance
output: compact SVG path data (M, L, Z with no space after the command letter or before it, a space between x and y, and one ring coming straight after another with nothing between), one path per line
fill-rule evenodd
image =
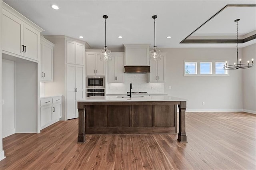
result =
M3 138L15 133L15 62L2 60Z

